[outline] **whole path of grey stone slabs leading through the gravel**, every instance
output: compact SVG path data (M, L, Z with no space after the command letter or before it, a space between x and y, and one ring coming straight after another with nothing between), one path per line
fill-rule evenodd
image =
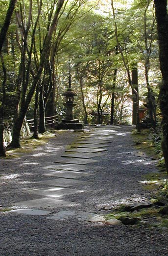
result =
M108 129L106 129L108 128ZM18 214L26 215L46 215L48 220L64 220L69 218L77 218L79 221L90 221L90 219L99 220L102 216L84 211L60 211L53 213L49 210L57 207L68 207L77 205L76 202L63 200L64 195L82 193L87 186L92 186L92 182L75 180L75 178L92 176L88 169L90 164L96 164L98 160L90 159L102 156L102 152L108 150L108 146L113 141L112 127L96 128L86 132L76 142L71 145L71 148L65 151L61 159L55 160L56 163L46 170L43 175L46 177L56 177L52 179L44 179L36 182L42 185L42 188L34 190L25 190L24 193L36 194L44 196L39 199L32 199L22 202L16 202L13 207ZM79 186L81 189L71 189L69 187ZM44 187L45 186L45 187ZM46 187L47 186L47 187ZM84 190L83 190L83 189ZM16 209L17 208L17 209ZM39 210L40 208L41 210ZM100 218L99 218L100 217Z

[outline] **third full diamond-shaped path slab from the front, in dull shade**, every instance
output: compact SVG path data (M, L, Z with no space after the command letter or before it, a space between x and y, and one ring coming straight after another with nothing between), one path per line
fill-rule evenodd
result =
M59 178L59 179L52 179L52 180L46 180L46 181L39 181L36 183L46 184L46 185L50 185L50 186L71 187L74 185L85 185L86 186L86 185L90 185L92 182Z

